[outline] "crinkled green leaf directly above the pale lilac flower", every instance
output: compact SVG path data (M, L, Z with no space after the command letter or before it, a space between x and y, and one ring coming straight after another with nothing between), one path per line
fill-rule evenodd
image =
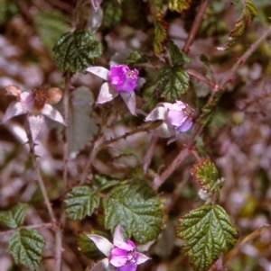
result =
M165 67L157 76L157 87L161 95L169 101L180 99L187 92L189 75L180 67Z

